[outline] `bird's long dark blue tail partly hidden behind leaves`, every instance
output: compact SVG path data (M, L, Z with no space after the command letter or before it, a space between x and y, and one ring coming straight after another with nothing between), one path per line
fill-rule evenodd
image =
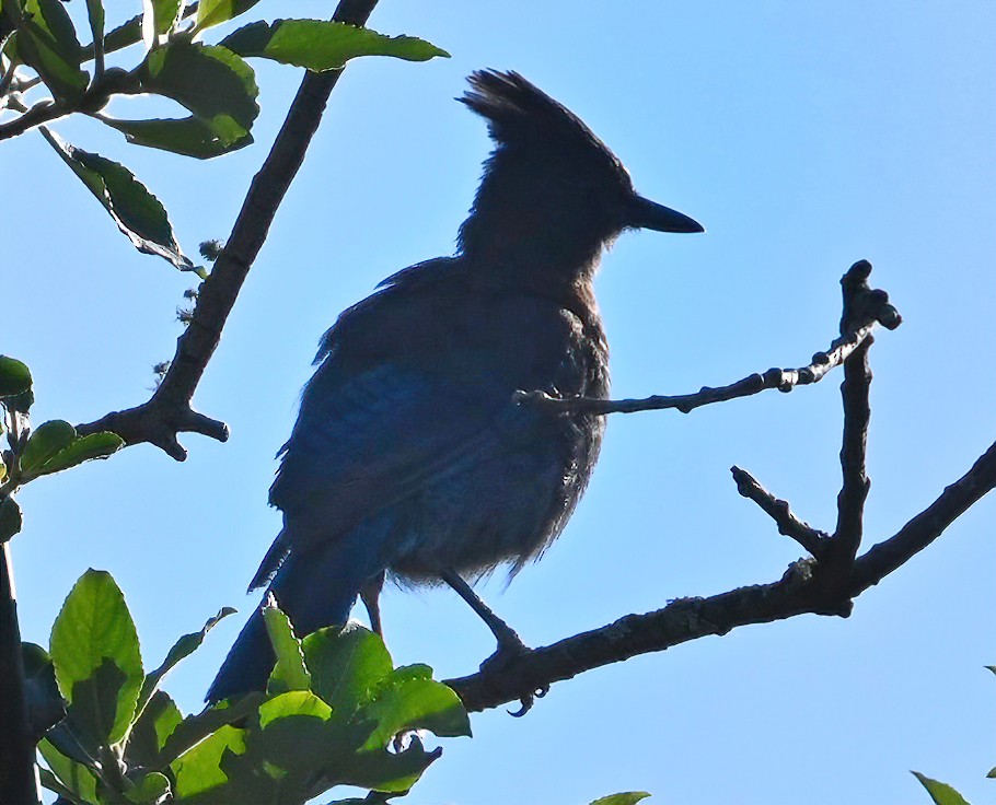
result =
M383 567L371 550L375 540L336 540L290 556L280 565L267 594L288 615L299 638L349 618L360 586ZM265 690L276 658L260 608L252 614L225 657L205 699L215 703L231 696Z

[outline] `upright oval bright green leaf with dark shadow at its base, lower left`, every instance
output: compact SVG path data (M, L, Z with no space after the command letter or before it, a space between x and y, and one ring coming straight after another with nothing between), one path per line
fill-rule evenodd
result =
M91 569L76 583L53 626L49 653L81 737L91 746L119 740L144 675L135 622L109 573Z

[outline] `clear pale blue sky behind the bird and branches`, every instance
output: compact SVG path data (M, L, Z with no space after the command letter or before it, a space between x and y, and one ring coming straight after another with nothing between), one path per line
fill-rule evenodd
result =
M332 8L290 5L257 9ZM383 277L452 250L488 151L452 98L480 67L516 69L563 101L641 192L708 230L629 234L606 255L598 292L616 396L807 362L834 335L841 275L868 258L905 317L872 351L869 539L891 536L992 443L992 2L382 0L371 26L453 58L355 62L336 89L195 397L231 441L185 436L185 464L140 446L24 490L13 547L25 639L47 643L91 565L125 590L150 667L221 606L256 604L243 591L278 529L266 506L274 453L317 338ZM299 81L289 68L257 74L258 144L215 162L130 148L89 121L56 128L130 165L193 254L228 235ZM135 253L37 136L3 143L0 176L2 351L34 372L36 421L142 401L152 364L173 354L190 277ZM736 493L728 468L832 528L838 382L687 417L613 417L566 533L485 596L540 645L777 579L800 551ZM991 495L848 620L737 630L556 685L524 720L477 715L475 737L448 742L406 802L579 805L633 789L661 805L927 802L908 769L993 802L994 525ZM170 677L185 710L199 708L242 617ZM445 591L390 590L384 619L395 660L440 677L472 672L493 648Z

